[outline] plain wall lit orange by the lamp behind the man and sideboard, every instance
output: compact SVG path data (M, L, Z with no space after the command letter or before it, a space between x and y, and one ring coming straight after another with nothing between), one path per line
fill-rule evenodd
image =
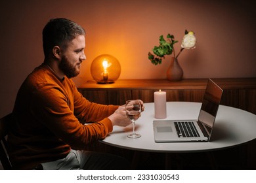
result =
M0 115L11 112L20 84L43 62L41 31L50 18L69 18L87 31L79 86L92 79L91 62L104 53L119 59L120 78L165 78L170 57L154 66L148 51L161 34L181 42L184 29L198 39L179 57L184 78L256 77L255 14L253 1L244 0L1 1Z

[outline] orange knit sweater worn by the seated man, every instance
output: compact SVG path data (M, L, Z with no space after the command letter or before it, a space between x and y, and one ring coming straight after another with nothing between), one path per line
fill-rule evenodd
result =
M91 103L71 79L60 80L43 63L26 78L16 97L7 140L12 166L32 169L64 158L71 148L86 149L112 131L106 117L117 108Z

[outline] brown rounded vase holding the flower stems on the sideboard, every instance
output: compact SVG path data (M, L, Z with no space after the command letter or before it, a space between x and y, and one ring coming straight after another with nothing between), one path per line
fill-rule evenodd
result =
M177 58L171 58L171 64L167 69L167 79L170 81L182 80L183 70Z

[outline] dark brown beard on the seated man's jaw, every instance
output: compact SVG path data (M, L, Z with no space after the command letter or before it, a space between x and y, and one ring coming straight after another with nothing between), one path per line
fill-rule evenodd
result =
M66 75L68 78L73 78L77 75L79 75L79 71L77 71L75 69L75 66L72 65L68 59L66 58L66 56L62 56L61 60L60 60L60 69L62 70L62 72L64 73L64 75Z

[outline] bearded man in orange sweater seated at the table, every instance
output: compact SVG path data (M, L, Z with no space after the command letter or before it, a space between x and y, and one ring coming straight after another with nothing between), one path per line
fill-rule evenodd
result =
M117 156L84 151L114 125L131 124L124 106L91 103L75 88L70 78L79 74L84 49L85 31L75 22L57 18L45 25L45 60L20 87L12 112L8 143L14 169L127 168Z

